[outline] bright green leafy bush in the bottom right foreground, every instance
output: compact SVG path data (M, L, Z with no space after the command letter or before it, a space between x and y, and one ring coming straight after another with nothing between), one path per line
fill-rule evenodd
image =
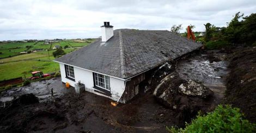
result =
M240 109L230 105L218 105L207 115L200 114L191 124L186 123L185 129L168 128L169 132L256 132L255 124L243 119Z

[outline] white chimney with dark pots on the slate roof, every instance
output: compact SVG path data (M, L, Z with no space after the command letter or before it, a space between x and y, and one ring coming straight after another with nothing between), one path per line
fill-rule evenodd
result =
M109 22L104 22L101 26L101 41L107 42L114 35L113 26Z

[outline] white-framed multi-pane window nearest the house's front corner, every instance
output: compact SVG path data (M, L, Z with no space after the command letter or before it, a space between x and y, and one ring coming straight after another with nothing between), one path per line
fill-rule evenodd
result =
M94 73L94 83L96 87L110 90L109 77Z

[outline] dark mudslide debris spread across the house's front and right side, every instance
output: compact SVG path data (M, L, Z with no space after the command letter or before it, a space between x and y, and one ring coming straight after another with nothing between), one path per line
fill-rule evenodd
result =
M74 88L65 89L61 78L4 91L1 94L3 99L16 99L16 96L33 93L38 97L39 103L20 104L12 109L0 108L0 132L166 132L166 126L183 127L199 110L206 112L214 109L216 103L212 102L210 91L209 95L204 92L198 96L197 90L188 90L197 94L193 96L186 95L187 91L179 91L179 87L181 84L187 86L191 77L204 85L222 85L224 78L217 77L226 74L224 62L209 63L208 58L197 55L183 61L163 64L156 69L150 73L144 85L139 84L140 87L145 87L140 90L142 93L117 107L113 107L108 98L90 92L76 95ZM155 95L165 93L168 101L153 95L160 83ZM175 89L170 91L168 88ZM216 90L222 88L216 87ZM51 97L54 97L54 101Z

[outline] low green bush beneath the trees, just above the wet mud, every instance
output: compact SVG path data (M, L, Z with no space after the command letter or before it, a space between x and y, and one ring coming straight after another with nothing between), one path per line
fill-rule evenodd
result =
M227 48L230 46L230 43L227 41L209 41L206 42L206 49L221 49L221 48Z

